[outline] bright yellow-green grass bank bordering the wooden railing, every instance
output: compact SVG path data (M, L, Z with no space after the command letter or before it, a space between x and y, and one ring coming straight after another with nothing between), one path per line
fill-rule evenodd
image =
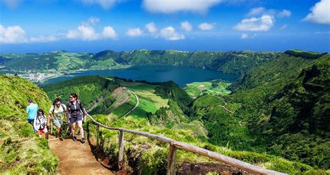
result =
M221 153L226 156L237 158L243 160L246 163L251 163L253 165L258 165L260 167L265 167L267 169L273 169L279 172L285 172L289 174L300 174L312 172L312 174L329 174L329 171L313 169L313 167L304 165L302 163L297 163L278 156L271 156L266 153L256 153L251 151L233 151L225 147L218 147L208 143L205 140L201 140L194 135L191 129L194 128L184 128L173 130L169 128L164 128L160 126L152 126L149 124L148 119L142 117L128 116L125 118L116 119L109 123L107 122L107 117L103 115L95 116L97 120L103 124L107 124L112 127L124 127L129 129L136 129L139 131L144 131L148 133L153 133L156 135L162 135L167 138L172 138L180 142L187 142L189 144L194 144L197 147L202 147ZM104 123L106 122L106 123ZM90 124L92 132L95 132L95 126ZM107 156L116 160L116 155L118 155L118 132L109 131L107 129L101 129L102 132L102 144L101 149ZM166 158L168 155L168 144L157 142L155 140L150 140L141 135L134 135L125 133L125 161L128 163L129 160L135 160L137 167L140 167L142 174L155 174L159 172L166 171ZM212 162L210 158L205 156L199 156L195 153L178 150L177 151L177 167L180 167L181 163L184 161L189 161L191 163L202 163L202 162Z

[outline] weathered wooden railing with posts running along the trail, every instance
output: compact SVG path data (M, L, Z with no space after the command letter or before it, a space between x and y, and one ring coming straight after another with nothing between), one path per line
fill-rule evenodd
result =
M155 135L152 133L145 133L145 132L130 130L130 129L126 129L126 128L113 128L110 126L106 126L104 124L100 124L99 122L97 122L93 117L91 117L91 115L87 115L87 116L93 121L94 124L97 125L97 132L100 131L100 126L103 128L107 128L109 130L119 131L119 133L118 133L118 168L119 169L121 169L121 167L123 167L123 156L124 156L123 138L124 138L124 132L126 132L126 133L133 133L133 134L137 134L137 135L143 135L147 138L151 138L154 140L158 140L160 142L166 142L166 143L170 144L170 149L169 149L169 153L168 153L168 161L167 161L167 174L168 175L175 174L176 149L183 149L185 151L190 151L192 153L198 153L202 156L212 158L213 160L218 160L220 162L226 163L233 167L237 167L239 169L243 169L244 171L250 172L253 174L283 174L281 172L275 172L273 170L258 167L256 165L244 163L241 160L237 160L235 158L230 158L221 153L216 153L213 151L209 151L207 149L202 149L200 147L196 147L194 145L187 144L184 142L178 142L171 138L166 138L166 137L162 137L162 136Z

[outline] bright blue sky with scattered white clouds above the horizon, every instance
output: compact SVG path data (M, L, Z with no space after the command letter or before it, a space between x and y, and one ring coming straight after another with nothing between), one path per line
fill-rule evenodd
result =
M0 52L330 51L330 0L0 0Z

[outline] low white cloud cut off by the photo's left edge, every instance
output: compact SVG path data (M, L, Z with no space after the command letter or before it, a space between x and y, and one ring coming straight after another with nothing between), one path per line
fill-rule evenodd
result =
M20 26L8 26L0 24L0 43L14 44L27 42L26 32Z

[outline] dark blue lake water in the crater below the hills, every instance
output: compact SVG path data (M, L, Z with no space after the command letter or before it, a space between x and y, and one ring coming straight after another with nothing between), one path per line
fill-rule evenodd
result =
M124 69L107 69L107 70L88 70L77 72L70 76L61 76L50 79L43 83L57 83L69 80L77 76L100 75L100 76L118 76L132 80L146 80L150 82L174 81L180 87L184 87L187 83L196 81L211 81L214 79L222 79L224 81L233 82L238 76L235 74L224 74L217 71L200 69L196 67L175 67L175 66L133 66Z

